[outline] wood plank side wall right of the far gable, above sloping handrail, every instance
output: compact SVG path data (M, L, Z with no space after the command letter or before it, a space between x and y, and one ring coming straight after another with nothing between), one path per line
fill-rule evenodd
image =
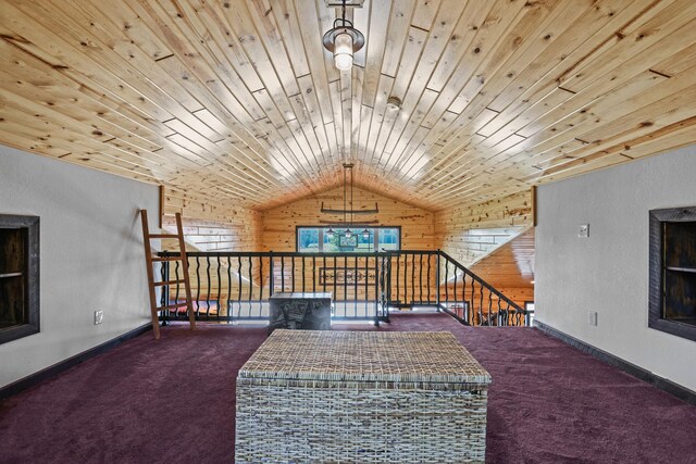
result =
M435 213L440 248L470 266L532 225L531 191Z

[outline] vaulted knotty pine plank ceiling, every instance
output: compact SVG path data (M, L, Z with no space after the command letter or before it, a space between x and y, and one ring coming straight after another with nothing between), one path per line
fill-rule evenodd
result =
M265 210L428 210L696 141L693 0L2 0L0 142ZM387 104L389 97L400 108Z

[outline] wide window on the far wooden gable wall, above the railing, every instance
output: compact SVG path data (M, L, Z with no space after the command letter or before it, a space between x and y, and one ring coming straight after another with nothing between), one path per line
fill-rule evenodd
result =
M304 253L370 253L382 250L398 250L401 242L400 227L365 227L356 226L356 230L347 237L344 228L336 228L334 234L328 227L297 227L297 251Z

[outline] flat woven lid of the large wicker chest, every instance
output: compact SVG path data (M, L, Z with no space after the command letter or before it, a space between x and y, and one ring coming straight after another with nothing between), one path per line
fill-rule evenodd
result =
M443 389L490 383L488 373L448 331L283 329L259 347L238 379L376 381L386 388L427 384Z

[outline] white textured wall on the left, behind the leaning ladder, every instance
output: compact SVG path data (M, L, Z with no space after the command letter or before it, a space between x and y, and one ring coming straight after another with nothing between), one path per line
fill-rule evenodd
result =
M154 226L156 186L0 146L0 214L40 216L41 274L41 331L0 344L0 387L149 321L141 208Z

